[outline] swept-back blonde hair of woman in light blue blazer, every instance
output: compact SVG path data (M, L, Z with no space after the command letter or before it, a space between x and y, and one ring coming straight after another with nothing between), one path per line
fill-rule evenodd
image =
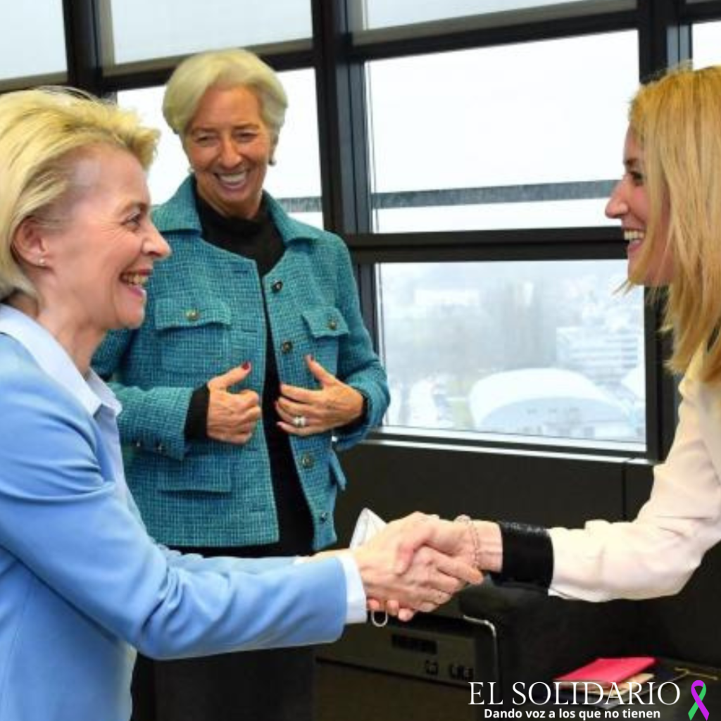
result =
M12 243L26 218L41 218L71 190L80 154L99 145L128 151L148 169L158 131L133 112L61 87L0 96L0 300L16 291L35 295Z

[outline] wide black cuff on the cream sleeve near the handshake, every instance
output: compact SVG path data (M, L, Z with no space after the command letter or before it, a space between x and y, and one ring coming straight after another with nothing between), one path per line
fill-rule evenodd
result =
M546 528L504 521L498 525L503 540L499 580L548 588L553 578L553 544Z

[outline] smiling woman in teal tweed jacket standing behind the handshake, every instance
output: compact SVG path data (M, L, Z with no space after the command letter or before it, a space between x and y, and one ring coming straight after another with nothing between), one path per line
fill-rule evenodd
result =
M153 214L172 257L149 283L146 323L110 335L94 359L123 403L143 520L184 551L332 544L345 486L335 451L389 403L345 243L263 190L286 105L273 70L247 51L177 67L163 110L191 173ZM144 668L136 697L148 710L135 721L216 721L241 701L255 721L312 721L311 649Z

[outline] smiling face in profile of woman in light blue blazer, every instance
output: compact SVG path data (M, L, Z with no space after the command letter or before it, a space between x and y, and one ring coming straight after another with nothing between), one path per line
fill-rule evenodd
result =
M128 151L97 146L79 155L58 208L49 211L58 216L53 224L29 231L37 319L73 354L110 329L143 322L143 286L169 247L151 223L145 173Z

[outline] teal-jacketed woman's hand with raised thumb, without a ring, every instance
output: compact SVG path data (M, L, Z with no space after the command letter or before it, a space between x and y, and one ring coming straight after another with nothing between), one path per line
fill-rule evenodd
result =
M227 373L208 381L208 438L242 446L249 441L260 419L260 397L255 391L229 392L244 381L252 371L250 363L231 368Z

